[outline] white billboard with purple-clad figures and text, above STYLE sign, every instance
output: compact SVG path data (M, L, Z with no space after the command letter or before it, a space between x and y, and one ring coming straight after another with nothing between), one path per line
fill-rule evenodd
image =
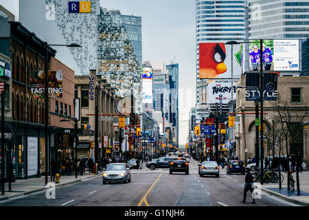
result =
M299 71L299 40L264 40L263 69L266 71ZM249 71L260 70L260 42L249 43Z

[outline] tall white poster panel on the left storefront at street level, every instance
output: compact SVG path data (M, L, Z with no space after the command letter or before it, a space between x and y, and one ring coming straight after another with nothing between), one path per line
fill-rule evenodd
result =
M27 138L27 175L38 174L38 137Z

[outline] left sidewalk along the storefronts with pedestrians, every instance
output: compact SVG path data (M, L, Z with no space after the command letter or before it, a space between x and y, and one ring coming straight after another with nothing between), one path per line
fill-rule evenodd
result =
M62 175L60 176L60 183L56 184L56 188L61 186L67 186L69 184L76 184L80 181L84 181L86 179L91 179L93 177L97 177L101 175L100 173L96 175L91 175L89 172L84 173L82 176L78 175L76 179L75 173L72 173L70 176ZM48 176L48 182L50 181L50 176ZM34 192L44 191L45 188L45 176L39 178L30 178L30 179L16 179L14 183L11 185L12 192L8 191L8 183L5 183L5 194L1 195L0 192L0 201L5 199L12 199L16 197L22 197L24 195L28 195ZM1 205L0 205L1 206Z

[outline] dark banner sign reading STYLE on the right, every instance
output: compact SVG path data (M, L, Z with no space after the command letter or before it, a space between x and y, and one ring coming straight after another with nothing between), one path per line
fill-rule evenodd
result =
M264 73L264 100L277 100L277 73ZM260 99L260 73L246 74L246 101Z

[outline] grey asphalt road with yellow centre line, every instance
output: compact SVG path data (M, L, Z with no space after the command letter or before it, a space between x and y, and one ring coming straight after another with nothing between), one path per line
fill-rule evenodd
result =
M102 177L94 177L78 184L56 188L56 199L47 199L45 192L27 195L0 206L295 206L282 199L262 194L251 204L241 203L244 175L200 177L198 163L190 159L190 174L169 174L168 169L132 170L128 184L102 184Z

